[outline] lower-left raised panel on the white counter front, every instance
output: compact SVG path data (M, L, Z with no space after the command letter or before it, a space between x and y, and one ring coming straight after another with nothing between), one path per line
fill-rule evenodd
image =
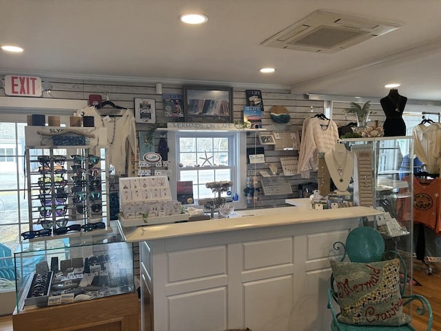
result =
M170 331L227 330L227 287L167 297Z

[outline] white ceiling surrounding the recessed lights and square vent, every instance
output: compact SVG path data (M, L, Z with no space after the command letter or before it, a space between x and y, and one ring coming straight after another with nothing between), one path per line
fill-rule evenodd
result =
M260 46L314 10L373 17L402 28L334 54ZM183 12L203 12L185 26ZM441 101L440 0L0 0L0 74L131 77L292 88ZM274 74L259 68L272 66ZM438 103L440 104L440 103Z

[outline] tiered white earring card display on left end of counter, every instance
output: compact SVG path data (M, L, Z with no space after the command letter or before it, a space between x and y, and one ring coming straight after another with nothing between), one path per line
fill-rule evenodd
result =
M172 200L167 176L119 179L119 222L123 227L188 221L181 202Z

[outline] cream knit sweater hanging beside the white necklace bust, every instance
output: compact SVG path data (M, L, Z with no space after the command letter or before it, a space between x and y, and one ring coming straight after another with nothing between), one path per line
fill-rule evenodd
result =
M305 119L302 129L302 141L298 153L297 173L302 178L309 178L310 171L318 170L318 153L329 152L338 141L338 128L332 120L318 117Z

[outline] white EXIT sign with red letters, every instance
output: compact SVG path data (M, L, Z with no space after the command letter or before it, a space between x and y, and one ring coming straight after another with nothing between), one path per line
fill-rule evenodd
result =
M5 94L13 97L41 97L41 78L10 74L5 76Z

